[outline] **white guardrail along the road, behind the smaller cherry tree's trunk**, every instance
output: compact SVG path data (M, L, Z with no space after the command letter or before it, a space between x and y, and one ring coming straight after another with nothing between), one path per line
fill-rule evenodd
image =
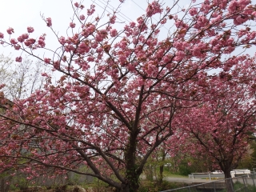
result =
M230 174L231 174L231 178L237 177L241 174L247 174L247 176L249 177L250 170L248 169L231 170ZM211 181L211 179L225 178L225 175L223 174L222 171L216 170L214 172L208 172L208 173L192 173L192 174L189 174L189 178L193 178L193 180L194 178L209 178Z

